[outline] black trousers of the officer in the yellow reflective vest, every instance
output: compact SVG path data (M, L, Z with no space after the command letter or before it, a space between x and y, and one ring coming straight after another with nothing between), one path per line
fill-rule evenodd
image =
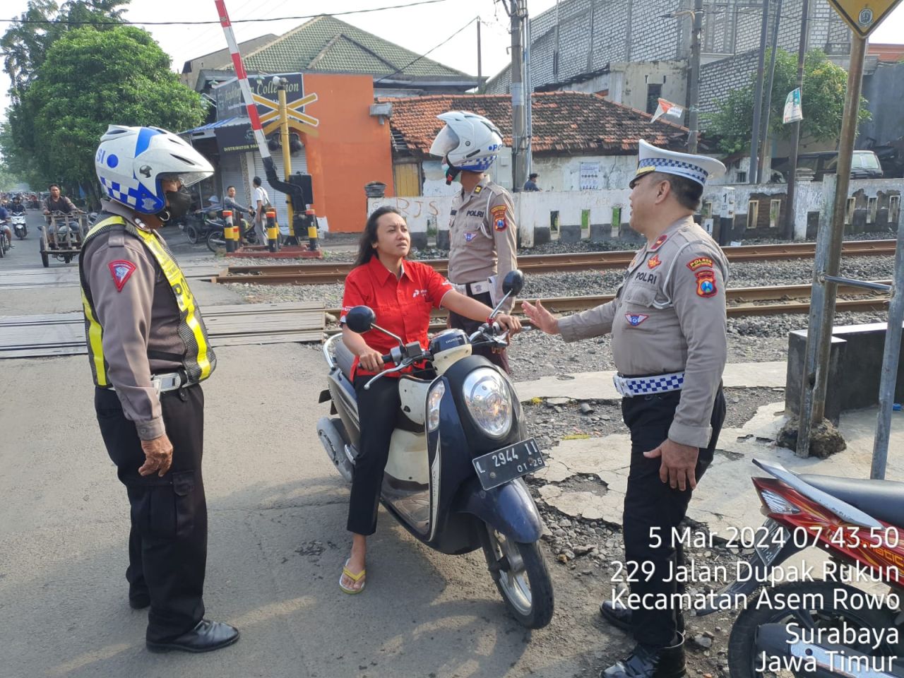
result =
M141 476L145 463L135 424L114 391L96 389L100 433L119 480L126 485L132 529L126 579L129 598L149 596L146 638L164 642L204 616L207 504L201 475L204 394L200 386L160 396L173 465L165 476Z

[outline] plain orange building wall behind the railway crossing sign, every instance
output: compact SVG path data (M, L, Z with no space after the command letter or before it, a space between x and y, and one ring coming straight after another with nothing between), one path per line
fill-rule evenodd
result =
M330 232L361 232L367 220L364 184L382 182L392 195L390 121L370 115L373 79L366 75L305 73L305 93L317 100L305 112L319 134L305 134L307 171L317 216Z

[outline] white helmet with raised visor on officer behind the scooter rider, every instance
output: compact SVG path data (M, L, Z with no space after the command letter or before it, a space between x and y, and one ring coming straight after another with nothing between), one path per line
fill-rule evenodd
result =
M433 140L430 155L444 158L449 164L449 174L453 169L485 172L493 165L503 147L503 135L498 127L483 116L464 110L450 110L437 118L446 127ZM448 176L447 183L450 183Z

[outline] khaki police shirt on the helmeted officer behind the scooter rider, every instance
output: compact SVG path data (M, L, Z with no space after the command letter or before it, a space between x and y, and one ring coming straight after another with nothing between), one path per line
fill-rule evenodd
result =
M462 189L449 222L449 280L464 285L494 277L491 297L501 299L505 274L518 266L516 229L512 196L502 186L484 177L471 193ZM513 303L506 300L503 312Z

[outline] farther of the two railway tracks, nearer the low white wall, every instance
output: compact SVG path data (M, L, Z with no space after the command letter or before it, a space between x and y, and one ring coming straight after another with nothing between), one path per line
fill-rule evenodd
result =
M895 240L851 240L844 243L847 256L892 255ZM729 261L767 261L771 259L807 259L815 256L815 243L788 242L780 245L741 245L723 248ZM532 254L518 258L525 273L558 273L578 270L626 268L634 259L633 250L612 252L576 252L571 254ZM423 263L440 273L448 270L447 259L424 259ZM220 283L256 285L325 285L342 282L352 264L349 262L311 263L288 266L231 266L213 278Z

